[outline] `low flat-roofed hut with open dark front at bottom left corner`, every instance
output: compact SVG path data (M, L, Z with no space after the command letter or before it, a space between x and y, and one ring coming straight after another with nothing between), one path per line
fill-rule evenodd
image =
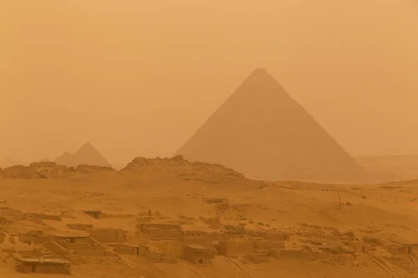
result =
M17 272L71 274L71 263L63 259L16 259Z

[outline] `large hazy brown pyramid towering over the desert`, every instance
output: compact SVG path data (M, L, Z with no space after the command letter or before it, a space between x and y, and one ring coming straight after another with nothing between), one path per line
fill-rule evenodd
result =
M365 170L263 69L213 113L176 154L249 179L364 182Z

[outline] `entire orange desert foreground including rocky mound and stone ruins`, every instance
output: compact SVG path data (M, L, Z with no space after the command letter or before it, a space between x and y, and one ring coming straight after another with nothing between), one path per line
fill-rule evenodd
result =
M418 181L255 181L181 156L28 169L0 178L1 277L24 256L77 277L418 277Z

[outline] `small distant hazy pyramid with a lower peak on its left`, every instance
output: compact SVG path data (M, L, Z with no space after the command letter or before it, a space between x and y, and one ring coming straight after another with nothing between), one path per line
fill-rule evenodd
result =
M106 158L90 142L82 145L75 154L65 152L62 156L55 159L55 163L68 167L77 167L82 164L111 167Z

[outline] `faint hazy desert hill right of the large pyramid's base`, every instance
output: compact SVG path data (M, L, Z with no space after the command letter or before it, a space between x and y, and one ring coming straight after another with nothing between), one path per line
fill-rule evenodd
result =
M355 160L378 182L418 179L418 156L362 156Z

